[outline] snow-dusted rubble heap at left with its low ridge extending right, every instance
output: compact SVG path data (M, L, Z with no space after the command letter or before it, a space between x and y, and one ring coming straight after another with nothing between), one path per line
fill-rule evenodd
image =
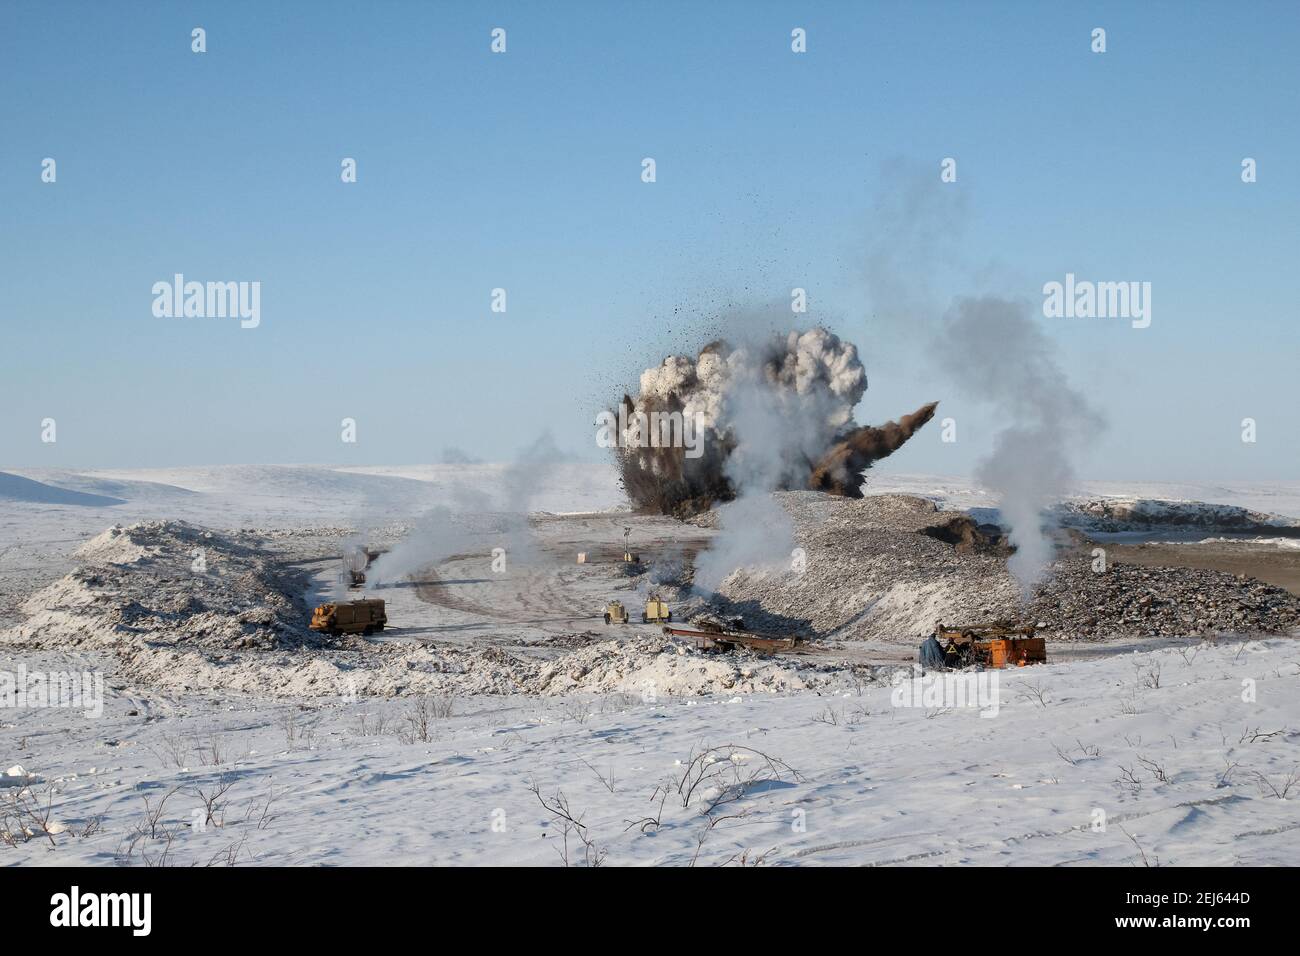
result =
M78 568L22 605L26 619L0 632L0 648L103 652L124 682L268 696L692 696L872 676L871 669L824 662L705 656L640 635L580 635L549 657L488 643L322 636L307 628L309 575L273 559L255 540L251 532L224 535L185 522L109 528L75 553ZM276 546L285 546L283 536Z

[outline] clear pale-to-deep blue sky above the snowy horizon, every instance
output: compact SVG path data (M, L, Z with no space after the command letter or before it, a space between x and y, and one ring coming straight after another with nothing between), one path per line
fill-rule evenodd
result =
M802 286L862 350L861 421L940 399L961 425L890 467L963 473L997 423L872 325L904 169L963 208L941 295L1152 282L1149 329L1043 319L1110 421L1087 477L1300 477L1297 27L1296 4L6 3L0 467L506 459L543 431L599 458L592 418L641 368ZM156 319L176 272L260 281L261 325Z

